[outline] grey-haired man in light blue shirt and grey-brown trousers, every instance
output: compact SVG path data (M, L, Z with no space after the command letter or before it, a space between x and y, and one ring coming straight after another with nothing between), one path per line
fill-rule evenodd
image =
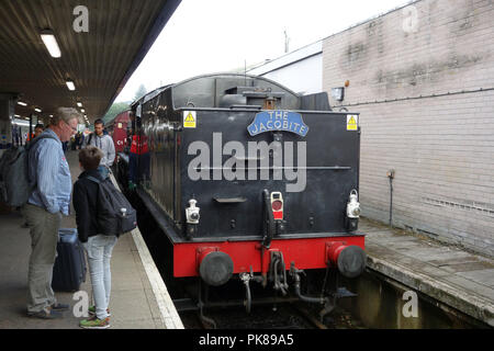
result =
M52 276L57 256L58 229L61 214L69 215L72 181L61 149L61 143L76 134L79 113L60 107L29 155L29 179L36 184L23 214L31 228L32 252L27 284L27 315L43 319L61 318L68 305L57 303L52 290Z

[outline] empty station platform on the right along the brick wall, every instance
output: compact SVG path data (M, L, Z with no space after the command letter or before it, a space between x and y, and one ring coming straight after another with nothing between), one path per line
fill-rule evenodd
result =
M494 260L361 218L368 269L494 327Z

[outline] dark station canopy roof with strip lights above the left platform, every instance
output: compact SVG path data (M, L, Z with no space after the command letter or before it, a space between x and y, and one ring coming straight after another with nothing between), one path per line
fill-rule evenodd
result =
M81 102L90 122L102 117L179 3L1 0L0 93L20 94L27 104L15 105L21 116L46 117L59 106L80 111ZM59 58L48 53L42 33L54 34ZM68 89L68 80L76 90Z

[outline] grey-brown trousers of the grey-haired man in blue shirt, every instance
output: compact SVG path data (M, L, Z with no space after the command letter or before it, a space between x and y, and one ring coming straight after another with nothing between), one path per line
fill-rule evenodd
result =
M57 303L52 290L52 276L61 215L32 204L25 204L22 212L31 228L32 248L27 273L27 313L35 314Z

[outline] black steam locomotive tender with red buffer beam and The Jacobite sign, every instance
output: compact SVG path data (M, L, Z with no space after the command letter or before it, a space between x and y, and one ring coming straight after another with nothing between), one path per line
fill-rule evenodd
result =
M131 179L172 247L175 278L239 279L249 308L251 282L282 294L293 283L328 304L302 294L303 270L363 271L358 114L231 73L157 89L132 110Z

